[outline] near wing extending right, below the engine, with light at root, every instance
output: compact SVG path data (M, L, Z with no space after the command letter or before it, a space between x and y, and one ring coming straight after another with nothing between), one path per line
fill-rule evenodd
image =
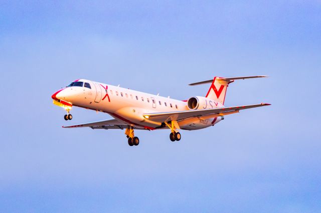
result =
M260 106L271 105L269 103L261 103L254 105L245 105L245 106L234 106L234 107L222 107L222 108L213 108L213 109L196 109L196 110L186 110L186 111L171 111L171 112L160 112L160 113L150 113L143 114L146 119L164 122L168 120L182 120L190 117L204 116L209 114L218 114L218 115L227 115L232 112L238 112L242 109L254 108Z

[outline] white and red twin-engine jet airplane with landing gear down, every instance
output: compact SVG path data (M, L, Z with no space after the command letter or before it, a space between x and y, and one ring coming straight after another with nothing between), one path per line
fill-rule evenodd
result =
M179 129L197 130L214 126L225 115L238 113L242 109L270 105L259 103L225 107L227 87L238 79L268 77L266 75L243 77L214 77L214 79L191 83L200 85L211 83L206 96L193 96L187 100L177 100L154 94L122 88L119 85L100 83L87 79L78 79L65 88L56 91L53 103L63 107L67 114L65 120L71 120L70 110L78 106L108 113L113 119L63 126L64 128L90 127L92 129L125 129L130 146L138 145L139 138L135 129L170 129L170 140L182 138Z

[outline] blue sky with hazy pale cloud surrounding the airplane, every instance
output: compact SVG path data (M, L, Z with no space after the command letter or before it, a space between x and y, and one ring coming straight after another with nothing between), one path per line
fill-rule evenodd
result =
M0 211L321 211L321 1L1 1ZM78 78L187 99L214 76L215 127L63 129L51 94ZM74 108L79 123L109 118Z

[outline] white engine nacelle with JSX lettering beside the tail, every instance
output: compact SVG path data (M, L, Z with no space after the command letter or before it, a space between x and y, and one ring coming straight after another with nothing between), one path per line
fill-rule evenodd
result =
M189 107L189 109L206 109L206 108L223 107L221 103L216 102L213 99L202 97L202 96L191 97L187 101L187 106Z

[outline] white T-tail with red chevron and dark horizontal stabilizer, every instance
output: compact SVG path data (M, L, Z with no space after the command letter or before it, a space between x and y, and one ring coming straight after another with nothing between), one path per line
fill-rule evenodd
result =
M267 76L257 75L257 76L246 76L246 77L214 77L214 80L205 80L201 82L191 83L189 85L199 85L199 84L212 82L211 87L206 94L206 97L211 98L224 105L226 90L230 83L238 79L247 79L247 78L256 78L256 77L267 77Z

